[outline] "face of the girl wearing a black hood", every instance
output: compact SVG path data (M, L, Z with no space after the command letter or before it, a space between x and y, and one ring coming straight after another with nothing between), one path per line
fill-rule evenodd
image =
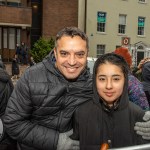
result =
M119 66L107 62L98 67L96 87L100 97L109 106L113 105L123 92L125 77Z

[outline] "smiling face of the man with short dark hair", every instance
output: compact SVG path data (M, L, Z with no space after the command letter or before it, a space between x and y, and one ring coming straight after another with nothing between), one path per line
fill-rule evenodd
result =
M88 50L86 41L79 36L63 36L57 41L57 49L54 49L56 67L68 80L78 78L85 69Z

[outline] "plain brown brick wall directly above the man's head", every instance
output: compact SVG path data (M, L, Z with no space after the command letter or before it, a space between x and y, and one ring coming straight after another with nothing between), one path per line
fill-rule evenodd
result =
M78 26L78 0L44 0L42 35L55 37L66 26Z

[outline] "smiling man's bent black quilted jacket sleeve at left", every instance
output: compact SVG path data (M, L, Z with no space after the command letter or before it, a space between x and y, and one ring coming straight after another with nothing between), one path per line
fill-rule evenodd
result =
M29 91L28 74L18 81L8 101L4 127L9 136L20 143L44 150L54 150L57 146L59 133L32 122L32 93Z

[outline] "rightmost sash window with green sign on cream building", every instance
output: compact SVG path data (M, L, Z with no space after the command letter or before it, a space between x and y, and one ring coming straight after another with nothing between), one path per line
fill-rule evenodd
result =
M144 35L145 18L138 17L138 35Z

